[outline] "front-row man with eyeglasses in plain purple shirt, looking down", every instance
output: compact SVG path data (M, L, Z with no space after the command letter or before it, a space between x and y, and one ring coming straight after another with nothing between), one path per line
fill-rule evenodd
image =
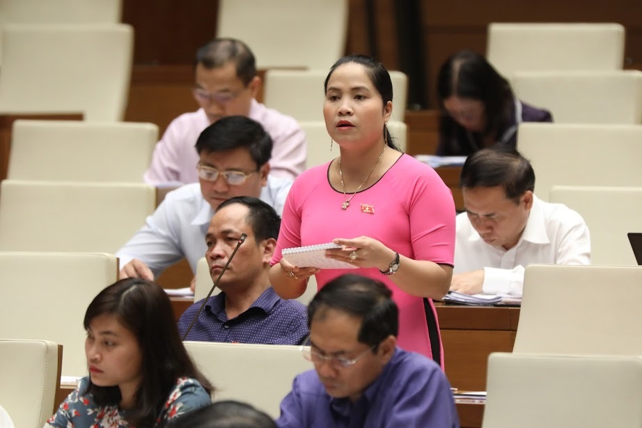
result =
M398 348L398 307L382 282L342 275L308 305L314 370L281 402L280 428L459 427L446 375Z

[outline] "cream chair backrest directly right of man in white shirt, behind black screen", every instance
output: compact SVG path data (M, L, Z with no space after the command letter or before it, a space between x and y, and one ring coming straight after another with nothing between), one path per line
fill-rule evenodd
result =
M553 186L551 202L574 209L590 231L590 260L637 265L627 234L642 231L642 187Z

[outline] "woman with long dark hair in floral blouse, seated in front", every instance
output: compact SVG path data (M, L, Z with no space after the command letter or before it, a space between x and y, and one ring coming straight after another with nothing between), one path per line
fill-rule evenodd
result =
M128 278L108 286L84 327L89 376L45 428L152 427L210 404L212 385L185 351L159 285Z

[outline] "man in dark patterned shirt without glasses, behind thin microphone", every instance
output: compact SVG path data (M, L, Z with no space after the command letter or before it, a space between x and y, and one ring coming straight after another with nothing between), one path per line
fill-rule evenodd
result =
M205 235L212 280L221 274L242 234L246 238L221 276L221 293L209 298L187 340L283 345L304 341L306 307L279 298L269 284L269 261L280 225L274 208L258 198L233 197L219 206ZM194 303L180 317L181 336L202 303Z

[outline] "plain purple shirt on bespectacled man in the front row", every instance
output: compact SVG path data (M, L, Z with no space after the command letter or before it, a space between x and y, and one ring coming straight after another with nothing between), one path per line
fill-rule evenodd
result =
M279 428L458 428L451 385L439 365L397 348L357 402L330 397L314 370L281 402Z

